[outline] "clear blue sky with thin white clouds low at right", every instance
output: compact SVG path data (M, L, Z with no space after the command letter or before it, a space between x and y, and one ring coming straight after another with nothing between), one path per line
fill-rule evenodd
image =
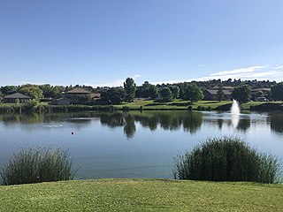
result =
M283 80L282 0L2 0L0 86Z

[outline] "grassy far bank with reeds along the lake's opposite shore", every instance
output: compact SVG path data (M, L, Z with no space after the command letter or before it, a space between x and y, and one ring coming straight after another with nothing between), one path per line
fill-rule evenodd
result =
M251 107L266 105L264 110L272 110L272 104L281 105L283 102L247 102L241 104L241 109L249 110ZM32 112L78 112L78 111L112 111L112 110L230 110L231 101L200 101L189 102L182 100L175 100L172 102L155 102L153 100L148 101L135 101L135 102L123 102L119 105L48 105L41 103L34 107ZM29 112L24 104L0 104L0 113L23 113Z

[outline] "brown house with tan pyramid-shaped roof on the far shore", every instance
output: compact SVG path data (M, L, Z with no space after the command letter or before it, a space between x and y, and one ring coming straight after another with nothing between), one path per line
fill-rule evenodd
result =
M91 92L81 87L75 87L72 90L65 92L62 97L69 99L73 104L79 104L86 102L86 99L88 99L90 94Z

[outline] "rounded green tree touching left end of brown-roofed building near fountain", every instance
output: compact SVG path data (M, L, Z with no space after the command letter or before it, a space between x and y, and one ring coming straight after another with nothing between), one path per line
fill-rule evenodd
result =
M185 83L183 89L183 99L191 102L201 101L203 99L203 91L195 83Z

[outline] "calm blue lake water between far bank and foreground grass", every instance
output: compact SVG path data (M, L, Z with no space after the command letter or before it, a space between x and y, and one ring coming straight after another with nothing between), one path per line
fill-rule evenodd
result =
M73 132L73 134L72 134ZM172 156L238 136L283 157L283 113L133 111L0 115L0 165L19 148L65 148L76 178L173 178Z

